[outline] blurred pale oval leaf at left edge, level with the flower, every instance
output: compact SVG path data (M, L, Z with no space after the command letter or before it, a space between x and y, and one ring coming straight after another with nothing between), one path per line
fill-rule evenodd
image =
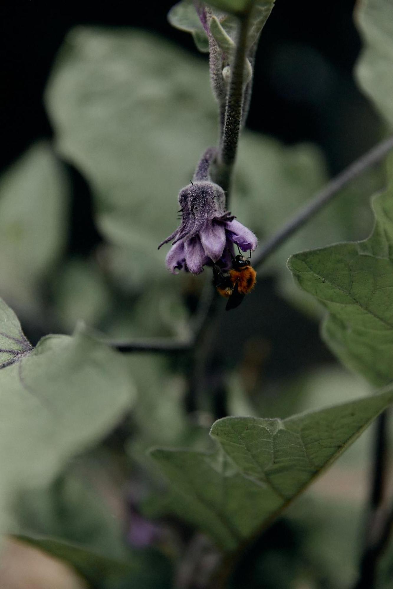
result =
M37 289L63 252L68 186L46 143L33 145L0 180L0 292L37 306Z

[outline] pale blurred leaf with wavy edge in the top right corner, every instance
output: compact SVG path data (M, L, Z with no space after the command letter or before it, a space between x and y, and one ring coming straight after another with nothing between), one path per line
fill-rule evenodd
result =
M356 6L355 17L364 45L356 77L393 125L393 4L390 0L362 0Z

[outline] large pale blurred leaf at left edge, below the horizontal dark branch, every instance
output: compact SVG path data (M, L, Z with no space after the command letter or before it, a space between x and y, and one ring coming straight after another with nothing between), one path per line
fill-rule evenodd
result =
M3 311L0 328L14 337ZM126 359L77 332L47 336L0 370L0 507L15 494L47 485L67 461L120 419L132 399Z

